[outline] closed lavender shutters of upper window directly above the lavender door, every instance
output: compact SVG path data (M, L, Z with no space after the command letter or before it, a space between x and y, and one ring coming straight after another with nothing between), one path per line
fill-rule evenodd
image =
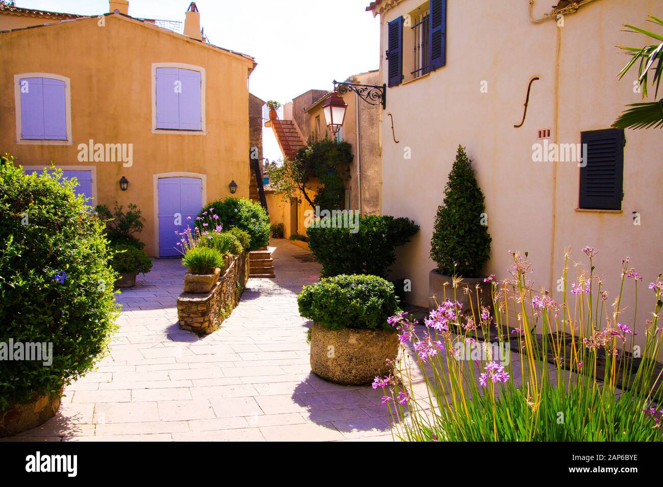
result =
M156 115L153 127L160 130L203 131L202 68L199 71L167 65L155 68L154 72Z

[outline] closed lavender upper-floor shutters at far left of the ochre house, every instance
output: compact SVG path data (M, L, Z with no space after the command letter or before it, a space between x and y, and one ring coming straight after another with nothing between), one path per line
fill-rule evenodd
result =
M21 139L68 140L66 83L54 78L18 79Z

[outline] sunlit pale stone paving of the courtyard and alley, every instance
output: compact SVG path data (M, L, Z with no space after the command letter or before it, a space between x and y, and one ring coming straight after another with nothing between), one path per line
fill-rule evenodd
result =
M302 286L318 280L310 252L272 241L276 278L251 279L221 329L177 325L185 269L155 260L117 296L110 356L66 388L56 417L10 441L391 441L382 392L310 372Z

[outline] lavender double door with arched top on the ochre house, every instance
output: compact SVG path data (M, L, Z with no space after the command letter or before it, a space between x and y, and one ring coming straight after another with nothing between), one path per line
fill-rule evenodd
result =
M203 205L203 185L198 178L160 178L158 191L159 256L180 255L178 243L192 228ZM190 217L190 218L189 218Z

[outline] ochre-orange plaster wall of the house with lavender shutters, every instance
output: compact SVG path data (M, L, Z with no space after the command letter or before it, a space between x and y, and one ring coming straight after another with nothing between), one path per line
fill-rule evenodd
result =
M153 175L206 175L208 201L249 195L249 91L253 61L139 21L109 15L0 34L0 148L23 166L95 166L97 203L136 203L147 219L141 239L154 255ZM206 135L152 133L154 62L201 66L206 70ZM44 72L71 80L71 145L17 144L14 75ZM78 144L133 144L133 166L121 162L79 162ZM129 189L119 189L119 179ZM205 191L206 189L206 191ZM206 203L206 201L203 201Z

